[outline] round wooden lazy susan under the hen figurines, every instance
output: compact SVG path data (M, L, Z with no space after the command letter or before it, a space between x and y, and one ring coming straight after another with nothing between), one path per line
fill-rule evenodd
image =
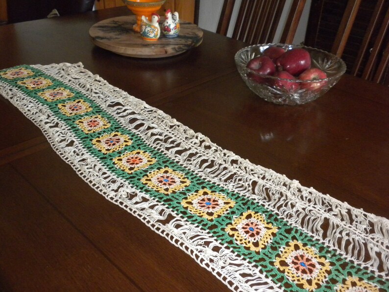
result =
M161 19L160 23L163 22ZM141 38L132 30L136 16L119 16L94 24L89 29L92 42L103 49L120 55L138 58L161 58L177 55L201 44L203 31L195 24L181 22L180 33L176 38L162 34L155 42Z

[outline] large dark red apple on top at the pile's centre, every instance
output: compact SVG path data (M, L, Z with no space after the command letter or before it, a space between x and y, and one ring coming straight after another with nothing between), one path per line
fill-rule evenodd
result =
M298 76L311 67L311 56L305 49L290 49L283 53L275 64L278 71L286 71L293 76Z

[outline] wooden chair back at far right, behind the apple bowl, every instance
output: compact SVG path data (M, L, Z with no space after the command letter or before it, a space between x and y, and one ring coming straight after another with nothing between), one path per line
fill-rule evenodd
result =
M361 0L348 0L338 33L332 46L332 53L341 57L350 35ZM361 48L351 70L354 76L373 80L389 86L389 8L387 0L377 0L367 26ZM367 59L367 61L366 61ZM363 68L363 69L362 69Z

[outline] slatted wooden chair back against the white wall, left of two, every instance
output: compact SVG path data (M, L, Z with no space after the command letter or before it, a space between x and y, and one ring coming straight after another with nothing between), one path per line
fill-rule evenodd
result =
M292 0L280 43L292 44L306 0ZM271 43L286 0L242 0L232 37L248 44ZM224 0L217 32L227 35L235 0Z

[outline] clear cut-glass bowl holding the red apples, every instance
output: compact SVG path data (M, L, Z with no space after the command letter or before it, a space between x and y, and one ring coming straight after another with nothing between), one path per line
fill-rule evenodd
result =
M285 50L292 48L306 49L311 55L311 68L318 68L324 71L327 74L327 78L314 81L283 79L298 84L298 86L296 86L297 89L295 90L287 90L285 88L272 86L271 84L274 83L274 80L282 79L275 76L255 73L246 68L248 61L254 57L261 56L263 51L268 47L281 47ZM307 103L322 96L339 81L340 77L346 71L346 65L343 60L331 53L320 49L288 44L261 44L245 47L235 54L235 63L244 82L255 94L267 101L289 105ZM266 78L266 82L256 82L254 75ZM314 82L322 82L324 85L315 90L310 90L308 84Z

